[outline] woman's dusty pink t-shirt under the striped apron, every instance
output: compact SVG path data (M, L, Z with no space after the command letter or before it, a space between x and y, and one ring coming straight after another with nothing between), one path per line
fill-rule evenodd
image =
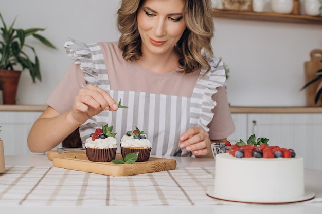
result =
M155 73L140 66L136 61L125 61L116 42L104 42L99 45L103 52L111 90L191 97L199 72L182 74L174 70ZM71 110L79 89L86 83L82 72L79 65L72 63L46 104L60 113ZM212 96L217 105L212 110L214 116L208 125L211 140L227 138L235 131L225 87L218 87L217 90L218 92Z

